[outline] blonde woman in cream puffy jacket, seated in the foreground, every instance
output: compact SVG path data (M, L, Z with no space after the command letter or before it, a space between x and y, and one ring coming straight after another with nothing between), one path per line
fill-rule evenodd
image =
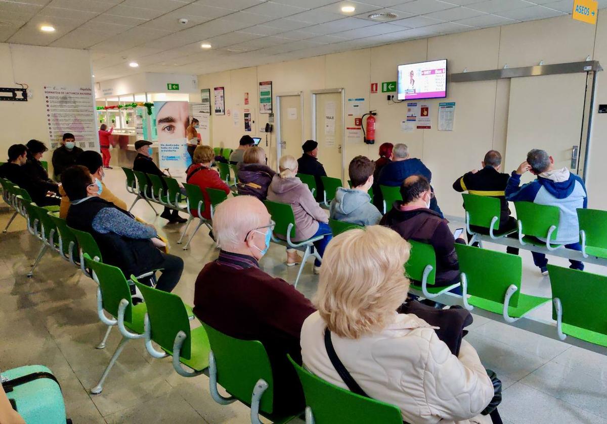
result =
M409 251L409 242L379 225L334 238L313 300L318 311L302 327L304 365L348 389L333 365L336 356L363 394L398 406L407 423L491 423L480 412L493 385L475 349L462 340L455 356L437 327L396 313L409 290L403 269Z

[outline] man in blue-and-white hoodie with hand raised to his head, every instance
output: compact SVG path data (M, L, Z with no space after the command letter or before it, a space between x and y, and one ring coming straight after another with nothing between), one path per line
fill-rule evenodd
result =
M530 171L537 176L535 181L518 187L521 175ZM568 249L582 250L580 245L580 224L577 220L578 208L588 207L586 187L580 177L571 173L567 168L554 169L554 159L544 150L533 149L527 153L523 162L506 186L506 200L510 202L526 201L539 205L556 206L560 210L557 238L554 243L564 244ZM546 240L541 240L545 242ZM540 268L542 275L548 275L548 259L543 253L531 252L534 263ZM579 260L569 260L574 270L582 271L584 264Z

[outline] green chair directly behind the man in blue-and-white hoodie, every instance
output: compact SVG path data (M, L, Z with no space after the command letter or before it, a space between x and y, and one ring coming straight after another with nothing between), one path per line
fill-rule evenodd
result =
M552 246L550 243L557 238L560 219L558 207L538 205L533 202L514 202L514 208L517 211L518 242L521 245L546 246L549 251L563 247L563 245ZM532 237L541 237L546 239L546 242Z

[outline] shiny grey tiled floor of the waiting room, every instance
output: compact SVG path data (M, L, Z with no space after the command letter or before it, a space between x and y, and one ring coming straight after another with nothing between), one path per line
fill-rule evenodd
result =
M106 184L127 203L132 202L134 197L124 190L120 169L106 171ZM135 205L134 212L157 225L172 243L172 253L185 260L175 293L191 303L195 276L217 255L206 231L202 228L191 248L183 251L176 244L181 226L164 225L166 221L156 218L143 201ZM8 216L0 214L2 228ZM49 366L61 382L68 416L76 424L248 422L248 408L238 403L217 405L208 393L207 377L178 376L169 359L152 359L140 340L131 340L124 349L103 393L90 395L89 389L97 383L120 339L118 331L112 330L106 349L95 349L106 328L95 312L95 283L56 254L42 259L32 279L25 277L38 248L39 242L24 231L21 217L8 233L0 234L0 369L29 363ZM523 291L549 296L548 277L541 277L533 267L529 252L521 255ZM284 256L283 248L272 245L262 268L293 282L297 269L285 267ZM554 263L565 265L566 261L554 259ZM607 272L592 265L587 269ZM310 265L298 288L310 297L316 285ZM550 305L534 312L545 320L550 314ZM502 379L504 422L607 424L607 356L474 317L466 339L478 350L484 365ZM607 354L607 349L603 352Z

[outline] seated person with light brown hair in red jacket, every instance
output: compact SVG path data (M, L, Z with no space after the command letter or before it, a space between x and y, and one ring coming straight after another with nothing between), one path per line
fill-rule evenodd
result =
M206 219L211 219L211 199L209 199L207 188L217 188L229 194L229 187L219 177L217 171L211 169L211 163L215 158L215 153L211 146L199 145L194 150L194 158L191 167L188 168L188 176L186 182L195 184L202 190L202 195L205 197L205 210L202 216ZM191 213L197 216L198 213L192 210Z

